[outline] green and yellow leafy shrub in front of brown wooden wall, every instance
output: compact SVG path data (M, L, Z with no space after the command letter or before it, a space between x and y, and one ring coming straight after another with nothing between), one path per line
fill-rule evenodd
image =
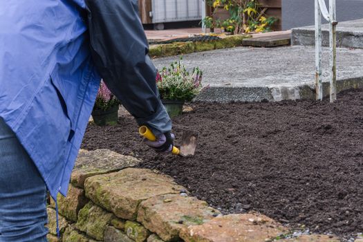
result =
M234 34L266 32L277 21L275 17L265 16L267 8L261 8L257 0L208 0L207 3L214 8L214 13L221 7L230 13L224 21L205 17L202 22L207 28L221 28Z

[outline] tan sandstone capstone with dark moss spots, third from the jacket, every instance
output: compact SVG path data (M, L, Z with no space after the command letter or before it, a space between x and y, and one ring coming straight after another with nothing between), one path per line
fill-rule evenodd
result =
M201 225L218 214L220 212L208 207L205 201L167 194L143 201L138 210L138 221L162 240L175 241L183 228Z

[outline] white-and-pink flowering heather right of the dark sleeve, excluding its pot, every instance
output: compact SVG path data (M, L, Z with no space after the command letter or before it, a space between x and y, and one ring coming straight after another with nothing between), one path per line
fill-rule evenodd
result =
M189 73L182 59L162 68L156 76L161 99L191 101L206 88L202 86L202 76L203 72L198 67Z

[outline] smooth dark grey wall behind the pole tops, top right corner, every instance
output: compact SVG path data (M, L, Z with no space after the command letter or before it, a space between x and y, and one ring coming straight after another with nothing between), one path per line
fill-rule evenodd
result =
M363 0L336 0L336 3L337 21L363 18ZM314 0L282 0L281 4L283 30L314 24Z

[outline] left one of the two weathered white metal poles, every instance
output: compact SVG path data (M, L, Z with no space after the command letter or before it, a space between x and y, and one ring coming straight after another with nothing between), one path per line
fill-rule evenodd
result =
M315 97L323 99L322 86L322 13L319 1L315 0Z

